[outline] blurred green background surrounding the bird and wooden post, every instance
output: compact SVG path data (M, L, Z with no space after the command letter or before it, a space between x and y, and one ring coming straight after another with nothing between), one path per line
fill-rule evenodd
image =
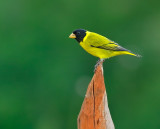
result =
M143 58L104 63L116 129L160 129L160 1L1 0L0 129L76 129L98 58L69 34L97 32Z

